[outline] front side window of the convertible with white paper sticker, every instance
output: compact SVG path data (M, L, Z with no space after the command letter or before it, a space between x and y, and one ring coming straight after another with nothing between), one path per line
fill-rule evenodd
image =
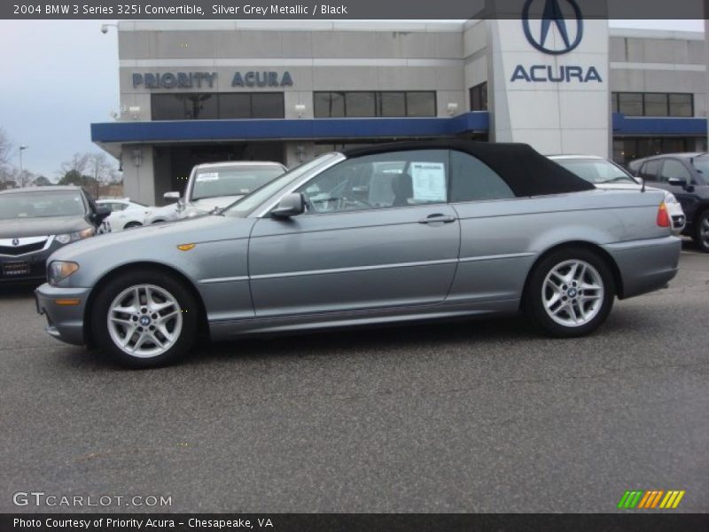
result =
M300 187L311 214L448 200L448 151L411 150L343 160Z

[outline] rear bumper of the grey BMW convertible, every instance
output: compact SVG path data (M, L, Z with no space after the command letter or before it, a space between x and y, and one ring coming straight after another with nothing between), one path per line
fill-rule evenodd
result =
M664 288L677 275L682 240L677 237L633 240L604 246L618 265L625 299Z

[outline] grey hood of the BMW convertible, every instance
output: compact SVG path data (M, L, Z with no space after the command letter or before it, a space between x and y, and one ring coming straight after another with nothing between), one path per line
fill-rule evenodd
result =
M73 261L90 257L119 265L137 260L160 261L160 249L248 237L255 220L233 216L199 216L172 223L146 225L131 231L105 233L58 249L51 260Z

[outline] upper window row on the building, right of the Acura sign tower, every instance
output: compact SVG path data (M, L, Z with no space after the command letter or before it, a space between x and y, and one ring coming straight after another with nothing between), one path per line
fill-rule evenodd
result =
M627 116L694 116L694 95L680 92L613 92L613 113Z

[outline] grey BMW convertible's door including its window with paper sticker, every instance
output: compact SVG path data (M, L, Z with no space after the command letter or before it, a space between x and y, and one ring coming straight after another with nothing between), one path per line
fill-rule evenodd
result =
M460 244L448 200L448 151L348 159L300 187L308 211L253 226L256 316L435 304Z

